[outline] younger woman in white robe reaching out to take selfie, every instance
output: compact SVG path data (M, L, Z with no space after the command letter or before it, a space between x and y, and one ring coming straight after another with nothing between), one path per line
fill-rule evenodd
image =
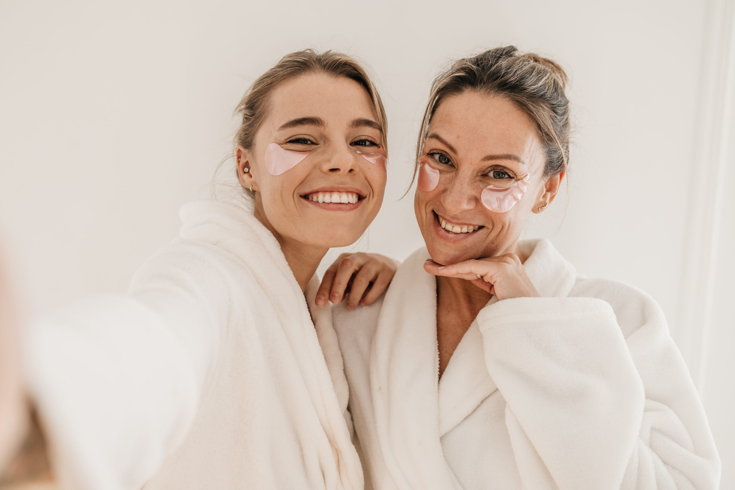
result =
M344 54L282 58L238 107L240 196L182 208L179 238L126 296L25 336L29 391L68 489L362 489L329 309L330 247L358 239L386 183L386 123ZM354 294L390 282L371 257ZM308 303L308 304L307 304Z

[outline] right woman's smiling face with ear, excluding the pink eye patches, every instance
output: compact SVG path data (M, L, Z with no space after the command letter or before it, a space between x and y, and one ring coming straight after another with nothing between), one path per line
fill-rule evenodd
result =
M439 181L433 190L416 190L415 212L429 254L440 264L516 252L528 213L551 202L563 178L543 178L545 153L526 112L505 98L474 92L442 101L424 154ZM483 190L508 182L525 187L523 196L506 212L491 211ZM420 180L420 187L427 186Z

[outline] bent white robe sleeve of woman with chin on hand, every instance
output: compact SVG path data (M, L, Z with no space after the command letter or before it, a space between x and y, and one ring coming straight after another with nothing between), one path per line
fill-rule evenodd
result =
M717 489L714 440L663 313L626 288L615 308L515 298L478 315L524 488Z

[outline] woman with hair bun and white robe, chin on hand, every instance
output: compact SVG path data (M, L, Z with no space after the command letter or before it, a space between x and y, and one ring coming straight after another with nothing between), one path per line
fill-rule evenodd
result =
M656 302L520 241L567 168L558 65L512 46L432 86L417 148L426 248L333 312L376 489L716 489L720 461Z

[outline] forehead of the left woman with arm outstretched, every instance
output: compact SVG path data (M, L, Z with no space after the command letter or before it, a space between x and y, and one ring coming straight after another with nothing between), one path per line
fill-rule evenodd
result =
M276 87L270 96L268 120L316 116L340 125L356 118L377 120L373 103L361 84L344 76L308 73Z

